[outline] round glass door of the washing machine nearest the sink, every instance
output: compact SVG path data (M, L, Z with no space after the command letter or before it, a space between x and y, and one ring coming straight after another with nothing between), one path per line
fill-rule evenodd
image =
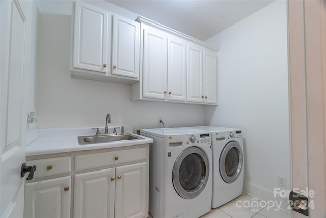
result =
M179 196L192 199L204 190L208 176L207 155L198 147L189 147L181 152L174 163L172 183Z

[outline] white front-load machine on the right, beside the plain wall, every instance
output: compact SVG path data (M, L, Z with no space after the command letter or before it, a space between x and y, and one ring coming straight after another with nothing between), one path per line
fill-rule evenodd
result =
M213 154L212 208L242 194L244 180L243 139L241 129L228 127L186 127L211 133Z

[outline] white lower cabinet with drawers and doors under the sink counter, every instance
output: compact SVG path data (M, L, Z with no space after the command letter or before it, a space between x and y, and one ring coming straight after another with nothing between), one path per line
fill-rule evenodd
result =
M149 144L26 159L25 218L148 216Z

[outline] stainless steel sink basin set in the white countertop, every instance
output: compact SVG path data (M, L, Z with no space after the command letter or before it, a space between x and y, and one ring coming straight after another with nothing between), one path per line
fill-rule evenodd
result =
M118 142L118 141L130 141L130 140L143 140L143 139L144 138L134 136L134 135L131 135L131 134L78 136L78 142L79 142L80 145L109 143L109 142Z

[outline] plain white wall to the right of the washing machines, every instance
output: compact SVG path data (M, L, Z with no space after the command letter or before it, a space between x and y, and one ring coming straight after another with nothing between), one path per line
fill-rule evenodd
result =
M290 189L286 1L276 1L208 39L219 51L219 106L205 123L243 129L244 190Z

